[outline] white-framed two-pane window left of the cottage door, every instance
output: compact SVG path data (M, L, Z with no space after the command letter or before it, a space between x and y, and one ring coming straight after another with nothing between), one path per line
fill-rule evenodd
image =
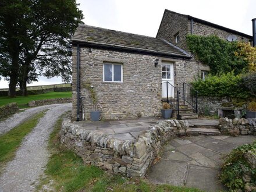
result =
M103 64L104 82L123 82L123 65L118 63L105 62Z

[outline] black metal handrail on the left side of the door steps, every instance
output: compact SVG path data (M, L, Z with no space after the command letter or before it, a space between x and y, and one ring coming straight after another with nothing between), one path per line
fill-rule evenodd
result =
M177 110L177 119L180 119L180 91L177 87L170 84L169 81L161 83L162 86L162 101L172 105L173 109Z

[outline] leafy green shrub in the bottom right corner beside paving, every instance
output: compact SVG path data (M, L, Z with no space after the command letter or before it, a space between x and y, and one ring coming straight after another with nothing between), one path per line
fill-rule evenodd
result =
M221 168L221 175L219 179L230 190L242 190L245 191L246 183L243 180L243 169L251 173L251 185L255 186L256 172L244 157L245 154L250 151L256 153L256 142L253 144L241 145L234 149L230 154L226 155L225 162Z

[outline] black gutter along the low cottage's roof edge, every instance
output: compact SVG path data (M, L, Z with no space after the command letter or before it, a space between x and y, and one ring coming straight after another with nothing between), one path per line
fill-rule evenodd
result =
M171 53L163 53L163 52L154 52L154 51L147 51L147 50L140 50L140 49L132 49L127 47L115 47L111 45L102 45L102 44L93 44L90 42L83 42L83 41L72 41L73 45L83 45L84 47L88 48L98 48L98 49L109 49L112 51L121 51L121 52L129 52L133 54L142 54L142 55L154 55L154 56L162 56L166 58L174 58L174 59L191 59L189 55L179 55L179 54L171 54Z

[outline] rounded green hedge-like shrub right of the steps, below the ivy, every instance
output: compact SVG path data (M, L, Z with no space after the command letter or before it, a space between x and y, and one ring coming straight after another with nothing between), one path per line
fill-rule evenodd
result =
M232 98L248 98L250 96L247 88L242 84L241 76L235 76L233 72L220 76L210 74L205 80L198 78L192 85L200 96Z

